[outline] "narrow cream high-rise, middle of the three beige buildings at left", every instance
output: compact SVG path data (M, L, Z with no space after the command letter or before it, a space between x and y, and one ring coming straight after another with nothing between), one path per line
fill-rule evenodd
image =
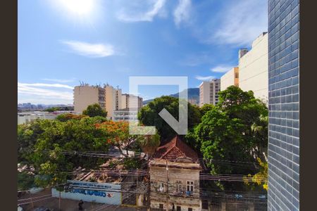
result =
M113 111L121 109L121 89L113 88L112 86L106 84L104 86L104 90L106 91L106 111L107 117L112 119Z

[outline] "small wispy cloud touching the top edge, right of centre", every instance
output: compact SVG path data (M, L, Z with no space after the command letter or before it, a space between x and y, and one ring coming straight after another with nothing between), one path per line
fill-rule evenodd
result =
M180 23L186 22L189 20L191 6L192 6L191 0L178 1L178 6L175 8L175 11L174 11L175 25L179 26Z

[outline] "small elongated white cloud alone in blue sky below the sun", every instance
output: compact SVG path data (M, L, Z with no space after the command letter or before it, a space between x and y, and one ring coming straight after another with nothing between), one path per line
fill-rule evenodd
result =
M64 40L61 42L66 44L74 53L81 56L100 58L112 56L115 53L113 46L110 44L90 44L75 40Z

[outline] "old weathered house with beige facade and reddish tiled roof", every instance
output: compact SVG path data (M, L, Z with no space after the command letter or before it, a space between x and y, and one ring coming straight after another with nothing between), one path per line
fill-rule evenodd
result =
M197 153L175 136L156 149L149 161L151 209L201 210Z

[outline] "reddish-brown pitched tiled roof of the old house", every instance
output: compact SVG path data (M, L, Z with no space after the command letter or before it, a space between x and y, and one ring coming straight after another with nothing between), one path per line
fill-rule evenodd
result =
M187 146L179 136L175 136L168 143L157 148L153 155L153 158L167 159L170 161L175 161L176 158L184 157L192 158L194 162L197 162L198 160L197 153Z

